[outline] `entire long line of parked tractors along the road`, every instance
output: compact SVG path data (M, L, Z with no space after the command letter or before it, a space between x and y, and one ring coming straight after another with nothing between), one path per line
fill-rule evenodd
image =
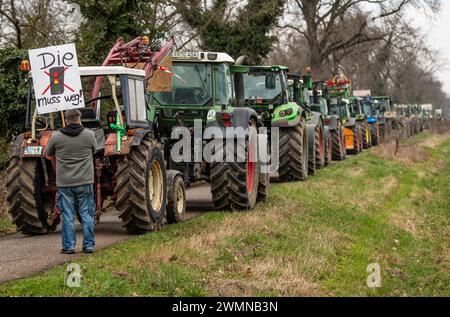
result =
M278 152L279 181L306 181L332 161L389 141L395 131L410 136L430 126L431 109L396 109L389 97L352 96L342 74L314 81L310 70L295 75L284 66L249 65L245 57L173 48L173 39L164 46L147 37L119 39L102 66L80 67L89 97L82 123L95 132L99 148L96 219L112 202L130 233L183 221L185 187L199 182L210 183L217 210L253 209L267 200L274 176L263 168L270 163L253 159L257 153L270 158ZM157 87L164 76L169 89ZM26 131L11 145L7 200L18 230L37 235L60 222L56 162L45 147L64 120L61 113L38 114L28 72L27 79ZM214 154L227 159L207 162L202 153L213 136L203 133L211 127L224 135L242 128L245 142L225 142ZM183 136L191 142L189 161L173 158L178 128L192 134Z

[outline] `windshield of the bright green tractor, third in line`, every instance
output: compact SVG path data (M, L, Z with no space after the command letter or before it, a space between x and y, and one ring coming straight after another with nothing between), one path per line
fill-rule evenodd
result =
M244 75L245 99L273 100L283 91L278 74L261 72Z

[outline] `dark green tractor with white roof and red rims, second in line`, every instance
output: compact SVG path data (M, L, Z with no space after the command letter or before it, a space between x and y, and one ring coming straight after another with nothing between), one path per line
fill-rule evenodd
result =
M268 195L269 174L258 160L268 152L268 141L258 134L258 113L245 106L245 69L226 53L174 52L172 62L173 69L165 69L171 73L170 91L148 94L149 117L168 168L180 171L187 186L209 182L218 210L253 209Z

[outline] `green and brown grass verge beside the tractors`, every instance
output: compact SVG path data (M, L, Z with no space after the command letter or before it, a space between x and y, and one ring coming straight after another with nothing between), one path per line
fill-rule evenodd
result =
M274 184L249 213L207 213L0 286L4 296L450 296L450 138L422 134ZM381 267L369 289L367 267Z

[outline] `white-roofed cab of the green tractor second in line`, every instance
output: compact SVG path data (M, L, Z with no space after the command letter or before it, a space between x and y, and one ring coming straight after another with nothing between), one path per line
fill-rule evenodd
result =
M148 94L150 120L161 136L170 137L174 126L206 125L221 111L242 106L242 87L234 75L234 59L226 53L174 52L171 91Z

